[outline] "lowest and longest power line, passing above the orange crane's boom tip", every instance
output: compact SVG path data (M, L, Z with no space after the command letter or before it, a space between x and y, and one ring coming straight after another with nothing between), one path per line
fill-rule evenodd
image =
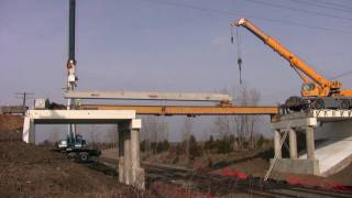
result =
M326 32L336 32L336 33L341 33L341 34L352 34L351 31L345 31L345 30L341 30L341 29L329 29L329 28L324 28L324 26L309 25L309 24L304 24L304 23L297 23L297 22L285 21L285 20L276 20L276 19L264 18L264 16L258 16L258 15L243 14L243 13L239 13L239 12L230 12L230 11L204 8L204 7L196 7L196 6L193 6L193 4L185 4L185 3L170 2L170 1L158 1L158 0L140 0L140 1L148 2L148 3L155 3L155 4L164 4L164 6L169 6L169 7L178 7L178 8L199 10L199 11L202 11L202 12L217 13L217 14L220 14L220 15L232 15L232 16L233 15L238 15L238 16L246 15L249 18L256 19L258 21L279 23L279 24L288 25L288 26L300 26L300 28L316 29L316 30L326 31Z

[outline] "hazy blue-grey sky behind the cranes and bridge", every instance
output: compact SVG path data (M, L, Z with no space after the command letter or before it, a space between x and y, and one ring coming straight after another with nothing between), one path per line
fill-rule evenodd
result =
M240 16L327 78L352 70L349 0L77 0L78 89L235 91L238 45L229 22ZM19 91L64 102L68 0L0 0L0 105L21 103ZM260 105L299 95L301 80L288 63L238 31L242 78L260 91ZM352 75L339 80L352 89Z

